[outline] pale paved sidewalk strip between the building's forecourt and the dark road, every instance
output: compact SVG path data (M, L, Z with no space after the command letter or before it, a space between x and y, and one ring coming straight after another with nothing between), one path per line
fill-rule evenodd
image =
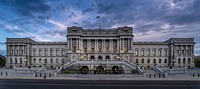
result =
M0 79L44 79L44 77L34 76L0 76ZM200 77L191 76L168 76L163 77L144 77L135 75L65 75L57 77L46 77L46 79L61 79L61 80L169 80L169 81L200 81Z

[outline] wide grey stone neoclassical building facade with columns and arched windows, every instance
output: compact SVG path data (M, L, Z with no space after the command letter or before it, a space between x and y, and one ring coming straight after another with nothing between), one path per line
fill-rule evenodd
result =
M163 42L134 42L133 38L133 29L127 26L116 29L68 27L67 42L7 38L6 67L56 68L75 60L93 63L123 60L145 69L155 65L194 67L194 38L171 38Z

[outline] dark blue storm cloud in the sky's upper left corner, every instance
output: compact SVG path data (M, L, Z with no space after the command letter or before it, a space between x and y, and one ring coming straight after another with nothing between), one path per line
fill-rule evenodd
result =
M11 7L20 15L42 19L48 17L44 13L50 10L50 6L45 4L44 0L1 0L0 4Z

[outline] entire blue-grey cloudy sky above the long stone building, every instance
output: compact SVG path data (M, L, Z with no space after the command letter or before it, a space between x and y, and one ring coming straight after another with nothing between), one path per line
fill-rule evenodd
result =
M200 55L200 0L0 0L0 54L6 38L66 41L67 27L98 28L99 22L132 26L134 41L192 37Z

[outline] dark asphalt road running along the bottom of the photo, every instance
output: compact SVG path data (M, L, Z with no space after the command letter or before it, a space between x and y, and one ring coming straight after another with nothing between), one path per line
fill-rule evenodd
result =
M0 89L200 89L200 81L0 79Z

